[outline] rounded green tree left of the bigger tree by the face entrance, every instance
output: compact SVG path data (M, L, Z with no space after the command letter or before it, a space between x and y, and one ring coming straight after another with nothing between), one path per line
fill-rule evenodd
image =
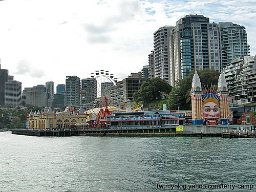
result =
M140 90L134 93L133 99L137 103L148 103L166 97L171 90L172 87L163 79L148 79L141 84Z

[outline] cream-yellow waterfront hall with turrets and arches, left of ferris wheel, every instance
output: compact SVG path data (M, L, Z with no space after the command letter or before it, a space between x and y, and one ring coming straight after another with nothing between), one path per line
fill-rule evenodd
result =
M54 113L51 107L44 112L31 111L27 114L28 129L70 129L77 124L86 124L89 116L84 113L82 108L78 112L73 112L71 108L66 108L63 112Z

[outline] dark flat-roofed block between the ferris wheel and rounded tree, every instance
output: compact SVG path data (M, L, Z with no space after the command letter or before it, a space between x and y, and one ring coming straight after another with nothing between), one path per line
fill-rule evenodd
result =
M126 102L128 99L133 100L133 94L139 91L141 83L146 81L145 78L129 77L122 80L123 87L123 100Z

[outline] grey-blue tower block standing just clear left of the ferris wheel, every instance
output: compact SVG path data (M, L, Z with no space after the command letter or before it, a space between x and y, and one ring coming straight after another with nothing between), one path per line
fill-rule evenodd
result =
M79 105L81 102L81 83L77 76L66 76L66 104Z

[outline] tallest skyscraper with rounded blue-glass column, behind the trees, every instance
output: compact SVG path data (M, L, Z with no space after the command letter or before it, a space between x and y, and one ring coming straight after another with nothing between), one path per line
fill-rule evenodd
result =
M203 15L187 15L170 35L170 84L205 68L220 70L218 25Z

